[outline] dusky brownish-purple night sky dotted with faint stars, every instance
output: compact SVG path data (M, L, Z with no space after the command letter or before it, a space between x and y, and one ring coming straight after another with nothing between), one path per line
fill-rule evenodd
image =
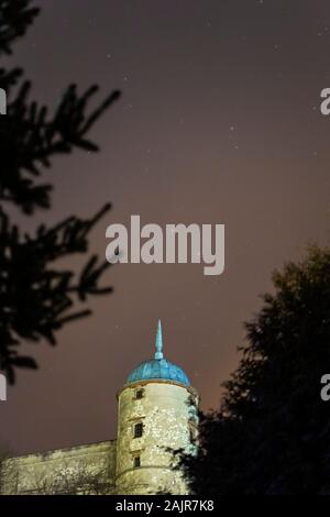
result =
M58 157L46 174L53 207L26 223L90 216L106 228L226 224L226 270L117 265L113 295L58 334L24 346L40 371L20 372L1 404L0 443L14 453L108 440L116 393L154 353L161 317L166 356L184 367L202 408L217 407L238 364L243 322L272 288L271 273L330 228L328 0L36 0L42 13L15 46L33 97L56 107L70 82L123 96L91 136L97 155ZM74 263L69 265L74 266Z

